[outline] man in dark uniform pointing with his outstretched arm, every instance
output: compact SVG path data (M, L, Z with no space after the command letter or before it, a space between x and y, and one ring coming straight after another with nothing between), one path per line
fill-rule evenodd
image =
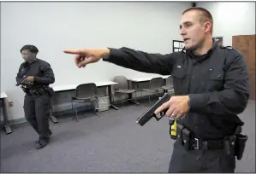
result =
M242 55L217 45L212 29L213 20L206 9L190 8L182 13L180 32L185 48L180 52L160 55L128 48L64 52L75 55L77 67L103 58L144 73L171 74L176 96L155 111L168 109L166 116L183 126L169 172L234 172L234 141L224 138L233 137L237 126L243 125L237 114L247 107L248 73Z

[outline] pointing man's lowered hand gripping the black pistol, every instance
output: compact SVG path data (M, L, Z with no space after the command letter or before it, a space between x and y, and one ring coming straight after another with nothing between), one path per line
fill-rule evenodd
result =
M173 119L181 119L188 113L189 96L171 96L168 102L165 102L161 107L158 107L155 114L161 113L168 109L165 115Z

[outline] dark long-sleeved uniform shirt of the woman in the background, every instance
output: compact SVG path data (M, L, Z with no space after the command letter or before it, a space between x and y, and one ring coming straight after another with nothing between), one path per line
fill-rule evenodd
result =
M48 62L36 59L29 62L23 62L17 73L16 81L17 83L25 75L34 76L34 82L32 88L39 88L43 85L53 84L55 82L54 73Z

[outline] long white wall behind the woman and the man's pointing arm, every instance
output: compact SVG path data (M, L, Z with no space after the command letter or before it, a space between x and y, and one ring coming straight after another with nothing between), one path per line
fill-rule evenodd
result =
M9 119L24 117L24 94L15 87L24 44L36 45L38 57L51 63L55 85L110 80L115 71L146 76L103 61L79 69L63 49L127 46L169 53L172 40L180 39L180 16L188 7L191 3L1 3L1 91L14 102Z

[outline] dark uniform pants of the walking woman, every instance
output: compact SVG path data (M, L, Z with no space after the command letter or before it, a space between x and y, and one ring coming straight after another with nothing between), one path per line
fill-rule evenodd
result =
M51 113L51 96L25 96L24 112L27 122L39 134L39 138L47 138L50 134L49 117Z

